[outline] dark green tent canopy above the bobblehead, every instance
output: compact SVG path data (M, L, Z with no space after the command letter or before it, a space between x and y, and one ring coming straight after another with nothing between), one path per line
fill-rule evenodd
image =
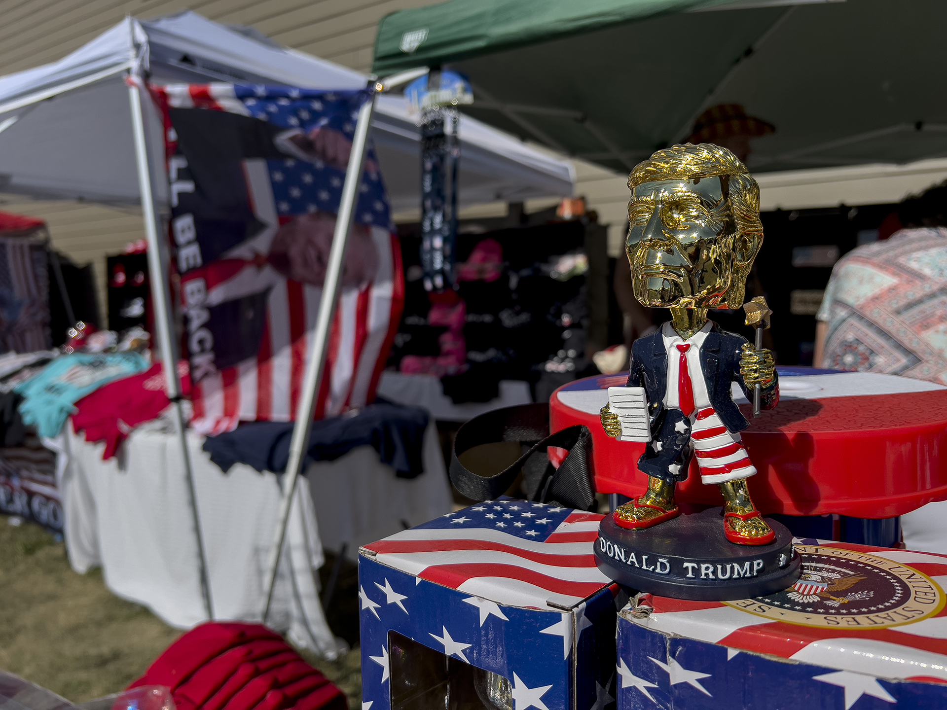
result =
M942 0L450 0L388 15L373 71L465 74L464 113L627 171L739 103L755 172L947 155Z

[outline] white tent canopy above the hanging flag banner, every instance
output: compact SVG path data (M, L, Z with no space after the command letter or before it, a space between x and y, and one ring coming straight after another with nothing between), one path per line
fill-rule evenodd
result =
M367 80L252 30L224 27L194 12L153 22L127 18L59 62L0 78L0 191L138 203L124 81L135 62L158 83L231 81L360 89ZM373 138L392 209L417 208L419 129L400 97L380 97L375 116ZM159 130L158 122L152 120L151 128ZM466 116L461 118L460 137L461 206L572 193L568 163ZM152 145L160 147L161 141ZM152 165L163 163L159 156L152 157L158 158ZM153 181L156 189L163 183Z

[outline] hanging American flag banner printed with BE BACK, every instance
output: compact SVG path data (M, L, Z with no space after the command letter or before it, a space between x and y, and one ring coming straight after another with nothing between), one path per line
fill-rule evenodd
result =
M295 417L351 139L366 91L152 86L165 116L192 425ZM316 417L365 405L403 304L401 252L373 149L359 186Z

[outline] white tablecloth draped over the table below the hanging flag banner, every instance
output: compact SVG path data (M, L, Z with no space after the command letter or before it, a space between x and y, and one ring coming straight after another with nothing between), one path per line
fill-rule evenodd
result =
M188 443L217 619L259 621L263 577L277 523L274 473L238 464L227 473ZM116 595L142 604L170 626L205 620L197 552L181 453L174 435L137 430L117 458L86 443L68 425L48 442L60 452L66 550L80 574L101 566ZM319 603L316 571L322 541L358 545L448 512L450 490L432 422L424 437L424 473L397 478L371 447L313 464L300 477L269 624L295 643L332 656L336 643ZM308 480L307 480L308 479ZM316 521L318 520L318 524ZM288 551L288 555L286 554ZM289 561L288 561L289 560Z

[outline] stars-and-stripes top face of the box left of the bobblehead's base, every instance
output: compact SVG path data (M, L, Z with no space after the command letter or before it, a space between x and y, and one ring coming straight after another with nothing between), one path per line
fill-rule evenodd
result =
M449 513L372 542L379 562L498 604L571 607L611 584L593 545L602 516L517 500Z

